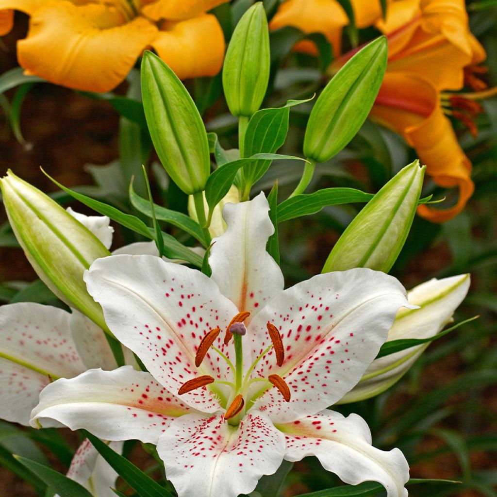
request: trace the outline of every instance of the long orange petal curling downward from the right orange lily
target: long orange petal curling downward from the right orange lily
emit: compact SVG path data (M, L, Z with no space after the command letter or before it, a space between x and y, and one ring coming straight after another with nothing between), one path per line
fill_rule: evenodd
M426 173L444 188L459 188L450 209L418 207L420 216L437 223L457 215L474 189L471 163L452 125L443 115L436 89L428 82L402 74L387 74L370 117L400 133L416 150Z

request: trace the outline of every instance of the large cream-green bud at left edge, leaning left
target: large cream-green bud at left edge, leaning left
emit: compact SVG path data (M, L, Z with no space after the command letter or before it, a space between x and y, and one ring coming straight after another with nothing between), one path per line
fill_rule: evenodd
M0 179L12 230L40 279L71 307L107 329L100 306L86 291L83 272L110 255L69 212L12 171Z

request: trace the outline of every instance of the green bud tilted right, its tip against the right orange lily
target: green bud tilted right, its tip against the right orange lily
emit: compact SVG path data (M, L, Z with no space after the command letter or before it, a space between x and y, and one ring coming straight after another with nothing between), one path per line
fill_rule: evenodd
M385 36L357 52L331 79L309 116L304 154L329 161L356 135L373 106L387 67Z

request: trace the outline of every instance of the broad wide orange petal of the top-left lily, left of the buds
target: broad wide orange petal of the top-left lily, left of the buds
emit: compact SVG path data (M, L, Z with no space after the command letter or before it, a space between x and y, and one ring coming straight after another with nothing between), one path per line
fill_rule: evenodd
M109 91L124 80L157 28L143 17L125 22L115 9L47 2L31 16L17 44L27 74L86 91Z

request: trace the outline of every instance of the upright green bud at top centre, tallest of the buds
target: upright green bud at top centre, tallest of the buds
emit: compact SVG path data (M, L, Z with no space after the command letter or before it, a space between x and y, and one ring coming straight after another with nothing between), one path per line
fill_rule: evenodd
M252 5L233 32L223 66L223 88L230 112L250 117L267 89L269 31L262 2Z

